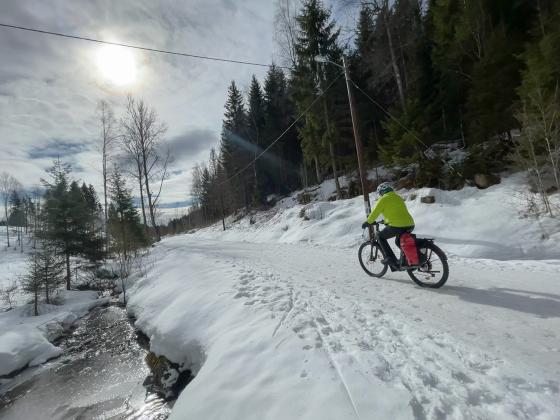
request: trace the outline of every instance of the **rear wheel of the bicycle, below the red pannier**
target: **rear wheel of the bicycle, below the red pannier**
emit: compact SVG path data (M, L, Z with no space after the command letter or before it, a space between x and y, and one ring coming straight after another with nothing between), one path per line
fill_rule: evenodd
M407 270L410 278L421 287L438 289L449 277L449 264L444 252L431 242L418 249L421 257L419 268Z

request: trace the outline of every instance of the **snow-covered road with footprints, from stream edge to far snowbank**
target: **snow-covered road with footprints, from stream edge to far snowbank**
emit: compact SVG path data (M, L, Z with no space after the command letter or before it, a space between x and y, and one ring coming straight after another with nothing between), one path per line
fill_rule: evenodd
M155 351L198 364L172 418L560 418L558 261L451 257L427 290L356 251L158 245L130 307Z

